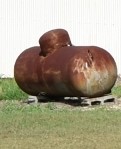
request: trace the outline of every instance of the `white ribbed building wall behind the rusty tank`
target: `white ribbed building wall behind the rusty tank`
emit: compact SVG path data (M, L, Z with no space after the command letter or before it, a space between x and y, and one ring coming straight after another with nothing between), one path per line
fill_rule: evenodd
M121 73L120 9L120 0L0 0L0 74L13 76L17 56L54 28L109 51Z

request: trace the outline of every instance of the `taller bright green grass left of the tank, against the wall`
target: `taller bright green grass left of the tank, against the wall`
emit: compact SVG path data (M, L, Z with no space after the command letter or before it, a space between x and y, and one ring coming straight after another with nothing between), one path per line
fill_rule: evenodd
M14 79L0 79L0 100L24 100L27 94L16 84Z

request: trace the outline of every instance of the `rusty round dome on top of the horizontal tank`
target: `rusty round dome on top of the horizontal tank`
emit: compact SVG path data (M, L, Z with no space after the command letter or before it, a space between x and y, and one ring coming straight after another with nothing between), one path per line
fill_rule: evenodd
M39 39L39 44L43 56L47 56L59 48L72 45L69 34L64 29L54 29L44 33Z

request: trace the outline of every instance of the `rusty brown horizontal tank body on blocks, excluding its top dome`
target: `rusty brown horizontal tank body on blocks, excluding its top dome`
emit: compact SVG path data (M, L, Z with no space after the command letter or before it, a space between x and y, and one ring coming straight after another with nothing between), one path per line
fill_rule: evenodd
M47 56L24 51L14 68L18 85L31 95L98 97L110 92L117 67L106 50L95 46L65 46Z

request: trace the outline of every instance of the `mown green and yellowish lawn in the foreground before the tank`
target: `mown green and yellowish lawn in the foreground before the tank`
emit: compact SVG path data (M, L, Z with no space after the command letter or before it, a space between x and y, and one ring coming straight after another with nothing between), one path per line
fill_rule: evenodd
M120 149L121 110L91 111L4 102L1 149Z

